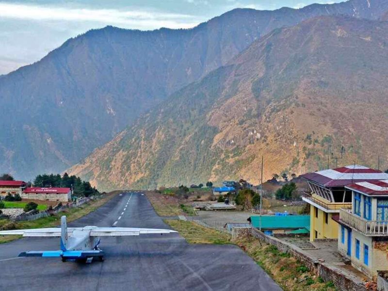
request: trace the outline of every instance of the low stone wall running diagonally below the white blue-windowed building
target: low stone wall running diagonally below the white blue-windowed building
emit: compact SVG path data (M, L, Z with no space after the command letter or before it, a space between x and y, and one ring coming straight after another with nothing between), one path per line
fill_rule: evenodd
M315 261L307 252L301 248L288 243L283 242L277 238L267 236L263 232L256 228L252 228L252 235L266 243L275 245L279 251L284 253L290 253L296 259L299 259L306 265L313 273L321 276L325 282L332 281L337 290L340 291L366 291L364 282L362 282L356 276L349 275L342 272L339 268L332 266L326 262Z

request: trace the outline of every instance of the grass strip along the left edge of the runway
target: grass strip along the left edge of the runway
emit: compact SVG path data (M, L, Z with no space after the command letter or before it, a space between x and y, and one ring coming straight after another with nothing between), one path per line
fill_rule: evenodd
M58 226L61 224L61 216L65 215L67 217L67 222L79 219L90 212L97 210L100 206L112 199L116 194L121 191L113 191L105 195L101 199L91 201L81 205L81 207L70 208L65 211L59 212L55 215L39 218L32 221L19 221L12 222L8 219L0 220L0 229L1 230L10 230L10 229L26 229L26 228L42 228L42 227L52 227ZM10 242L20 238L20 236L0 236L0 243Z

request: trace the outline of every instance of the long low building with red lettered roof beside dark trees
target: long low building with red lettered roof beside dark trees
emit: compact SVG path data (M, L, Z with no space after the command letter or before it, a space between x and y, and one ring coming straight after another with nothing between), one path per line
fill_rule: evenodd
M28 187L23 191L21 197L23 199L68 202L71 199L71 189Z

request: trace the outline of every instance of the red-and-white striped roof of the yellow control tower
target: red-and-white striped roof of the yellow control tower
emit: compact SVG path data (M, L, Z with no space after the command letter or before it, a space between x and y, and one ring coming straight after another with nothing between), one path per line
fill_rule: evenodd
M388 179L388 174L361 165L349 165L307 173L302 177L324 187L343 187L355 182Z

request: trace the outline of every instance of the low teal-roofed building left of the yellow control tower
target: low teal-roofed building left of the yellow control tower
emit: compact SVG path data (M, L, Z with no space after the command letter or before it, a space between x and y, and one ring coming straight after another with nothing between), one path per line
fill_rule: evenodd
M260 216L251 216L252 227L260 227ZM307 234L310 229L310 215L263 215L261 230L265 234Z

